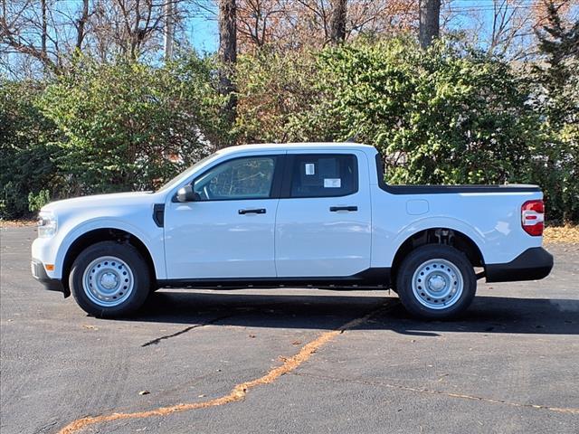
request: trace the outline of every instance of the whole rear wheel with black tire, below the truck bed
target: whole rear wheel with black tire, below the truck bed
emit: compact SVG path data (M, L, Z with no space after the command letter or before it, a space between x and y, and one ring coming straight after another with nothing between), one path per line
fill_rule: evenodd
M437 265L437 260L435 259L442 259L442 263L450 263L451 265L449 265L449 267L441 267L441 263ZM431 260L433 261L433 268L431 271L426 271L425 267L428 266L428 262ZM438 269L436 269L437 267ZM446 271L447 268L449 270L448 272ZM444 277L450 278L449 282L444 283L444 289L441 289L441 295L444 295L446 298L430 298L429 296L431 294L436 295L435 291L429 293L428 291L422 292L423 289L418 289L422 288L418 280L421 278L419 273L420 269L422 269L421 272L427 273L427 277L429 276L428 273L432 273L430 276L437 278L439 282L444 281ZM460 272L460 277L456 278L456 280L452 278L452 276L455 276L455 270ZM416 293L413 289L414 273L417 273L415 284ZM439 278L435 273L444 277ZM461 292L456 290L454 294L446 293L446 285L458 285L460 278L462 281ZM457 288L460 287L457 286ZM470 307L470 303L472 303L472 299L477 291L477 278L469 259L460 250L441 244L429 244L411 251L408 256L404 258L396 276L396 289L403 307L413 316L425 319L448 319L459 316ZM444 307L447 303L450 306ZM425 305L430 305L432 308Z

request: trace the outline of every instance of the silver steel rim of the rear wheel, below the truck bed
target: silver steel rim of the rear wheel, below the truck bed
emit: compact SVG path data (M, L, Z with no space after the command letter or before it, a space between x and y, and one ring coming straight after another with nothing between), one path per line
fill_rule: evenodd
M441 310L455 305L462 296L460 269L446 259L429 259L414 271L413 295L424 307Z

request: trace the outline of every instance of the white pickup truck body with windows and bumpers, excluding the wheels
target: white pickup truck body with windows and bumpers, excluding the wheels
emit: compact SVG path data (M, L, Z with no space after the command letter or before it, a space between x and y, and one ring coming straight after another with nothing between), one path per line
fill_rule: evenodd
M157 286L388 288L403 255L432 240L456 242L490 281L548 274L553 262L542 236L524 228L542 227L543 214L522 217L524 203L543 199L537 186L391 186L376 156L373 146L350 143L235 146L155 193L50 203L41 217L56 229L33 242L33 274L70 294L68 274L81 250L120 238L138 248ZM229 168L236 161L249 174L240 183L261 177L269 192L258 185L254 196L231 193L237 187L219 181L219 171L241 170ZM204 176L213 181L204 184ZM177 193L197 184L205 190L180 202Z

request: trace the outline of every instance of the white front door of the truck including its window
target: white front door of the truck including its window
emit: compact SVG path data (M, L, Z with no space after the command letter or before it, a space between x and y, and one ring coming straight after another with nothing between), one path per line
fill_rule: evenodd
M167 278L276 276L279 199L274 178L280 156L242 156L217 163L193 181L194 202L167 201Z

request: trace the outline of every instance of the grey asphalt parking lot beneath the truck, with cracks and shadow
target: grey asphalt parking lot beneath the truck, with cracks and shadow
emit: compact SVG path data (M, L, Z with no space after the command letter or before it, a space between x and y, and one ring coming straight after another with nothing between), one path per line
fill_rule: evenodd
M33 280L34 228L0 235L3 434L579 432L576 245L452 322L315 289L162 290L100 320Z

